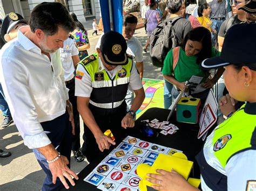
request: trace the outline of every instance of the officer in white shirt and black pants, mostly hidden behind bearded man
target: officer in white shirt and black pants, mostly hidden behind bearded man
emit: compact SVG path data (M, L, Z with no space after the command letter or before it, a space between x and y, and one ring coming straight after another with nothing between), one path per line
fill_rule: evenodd
M75 44L74 37L70 34L63 42L63 48L60 48L60 59L64 69L64 80L69 89L69 101L72 104L73 117L75 122L75 132L72 138L72 152L77 162L84 160L84 155L80 151L80 122L79 112L77 111L77 97L75 96L75 66L80 61L79 51ZM74 135L75 133L75 135Z

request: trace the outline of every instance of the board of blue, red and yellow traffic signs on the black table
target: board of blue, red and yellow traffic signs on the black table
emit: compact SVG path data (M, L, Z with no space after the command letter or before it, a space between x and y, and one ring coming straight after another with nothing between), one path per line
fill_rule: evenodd
M182 151L127 136L84 181L100 190L138 190L141 179L137 166L152 166L159 153L172 155L176 152Z

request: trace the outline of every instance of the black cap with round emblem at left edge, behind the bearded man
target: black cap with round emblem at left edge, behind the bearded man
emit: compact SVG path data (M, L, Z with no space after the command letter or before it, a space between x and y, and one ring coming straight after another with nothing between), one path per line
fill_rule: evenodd
M15 12L10 12L8 15L6 15L1 28L2 39L4 40L4 35L8 34L14 28L14 26L19 23L28 24L28 20L24 19L21 15Z

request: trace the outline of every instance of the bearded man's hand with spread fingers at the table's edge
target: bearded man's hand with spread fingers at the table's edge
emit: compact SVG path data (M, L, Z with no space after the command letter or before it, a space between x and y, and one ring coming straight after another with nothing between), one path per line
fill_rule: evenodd
M49 168L52 174L52 183L55 184L58 177L59 180L62 181L66 189L69 189L69 185L66 182L65 178L70 181L72 186L75 186L75 182L73 181L71 175L76 180L78 180L78 176L75 172L71 171L71 169L67 166L68 164L69 160L63 155L60 155L60 157L56 161L49 163Z

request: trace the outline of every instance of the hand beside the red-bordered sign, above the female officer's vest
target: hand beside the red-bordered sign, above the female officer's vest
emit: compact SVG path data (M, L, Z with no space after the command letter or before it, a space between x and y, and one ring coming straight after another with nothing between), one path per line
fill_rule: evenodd
M229 94L226 94L220 98L220 111L223 113L223 115L227 116L230 114L230 112L235 112L235 104L237 103L237 100L234 100Z

